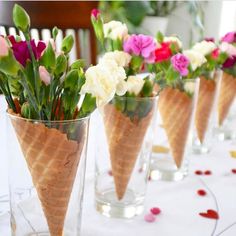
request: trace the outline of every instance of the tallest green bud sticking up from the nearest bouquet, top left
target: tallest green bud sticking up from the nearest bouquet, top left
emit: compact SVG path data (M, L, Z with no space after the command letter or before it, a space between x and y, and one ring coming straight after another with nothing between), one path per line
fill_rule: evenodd
M13 22L15 26L21 30L23 33L29 31L30 28L30 17L27 12L19 6L15 4L13 7Z

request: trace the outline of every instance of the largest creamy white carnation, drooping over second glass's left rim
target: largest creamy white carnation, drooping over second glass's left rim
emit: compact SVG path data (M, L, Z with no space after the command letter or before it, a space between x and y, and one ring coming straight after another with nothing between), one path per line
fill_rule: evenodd
M126 88L126 74L123 67L114 61L104 60L85 72L86 81L81 88L81 94L90 93L96 98L97 107L101 107L112 100L114 95L124 95Z

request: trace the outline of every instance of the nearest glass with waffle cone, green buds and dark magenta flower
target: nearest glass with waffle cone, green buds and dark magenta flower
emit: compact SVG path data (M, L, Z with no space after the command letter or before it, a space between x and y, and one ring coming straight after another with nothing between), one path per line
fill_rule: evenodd
M36 42L30 37L30 18L17 4L13 21L24 39L0 36L0 88L21 148L11 155L12 233L78 235L89 115L100 103L92 91L85 92L91 69L84 73L83 60L69 65L72 36L56 51L56 27L52 40ZM18 150L15 142L8 143L9 154Z

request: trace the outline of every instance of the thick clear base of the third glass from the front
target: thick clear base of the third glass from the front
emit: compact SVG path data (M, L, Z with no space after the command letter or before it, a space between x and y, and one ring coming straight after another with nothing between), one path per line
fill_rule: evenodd
M188 166L178 169L172 160L155 160L151 162L150 178L152 180L180 181L188 175Z

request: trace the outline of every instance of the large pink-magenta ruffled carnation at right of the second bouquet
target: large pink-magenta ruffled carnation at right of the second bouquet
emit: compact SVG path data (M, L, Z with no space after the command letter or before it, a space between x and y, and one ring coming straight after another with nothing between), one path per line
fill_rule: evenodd
M133 34L123 44L125 52L142 56L148 62L154 62L156 46L152 37L143 34Z

